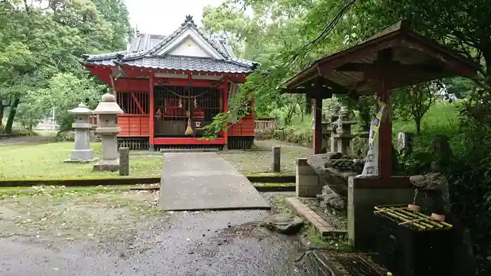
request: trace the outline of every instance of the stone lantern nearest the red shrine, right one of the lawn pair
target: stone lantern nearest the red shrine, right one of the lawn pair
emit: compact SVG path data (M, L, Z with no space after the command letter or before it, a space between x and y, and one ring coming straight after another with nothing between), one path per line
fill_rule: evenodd
M102 138L102 160L94 164L94 170L117 171L119 170L119 153L116 135L121 131L117 118L118 114L123 113L123 110L116 103L116 97L106 93L102 95L102 101L97 105L94 113L97 115L95 132Z

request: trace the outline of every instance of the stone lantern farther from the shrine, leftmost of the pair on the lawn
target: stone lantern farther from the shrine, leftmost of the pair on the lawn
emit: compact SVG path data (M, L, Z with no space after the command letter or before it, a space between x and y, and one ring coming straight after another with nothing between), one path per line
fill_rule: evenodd
M91 124L88 123L88 116L92 115L93 112L85 104L81 103L76 108L70 109L68 113L75 116L75 123L72 124L75 129L75 144L74 149L70 152L70 159L64 162L85 163L95 161L94 151L90 149L88 133L91 127Z

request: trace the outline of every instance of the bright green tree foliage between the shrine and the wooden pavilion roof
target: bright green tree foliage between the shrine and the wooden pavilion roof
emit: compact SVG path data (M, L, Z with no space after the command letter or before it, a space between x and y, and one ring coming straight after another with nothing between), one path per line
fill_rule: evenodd
M260 62L261 68L241 85L237 97L247 102L255 97L256 112L269 113L288 105L295 111L298 98L281 95L279 85L325 53L342 48L342 36L325 37L325 18L332 18L344 3L332 1L224 1L218 8L203 11L206 32L226 36L241 57ZM236 120L241 109L236 105L227 116ZM210 128L224 125L216 118ZM211 132L210 132L211 133Z

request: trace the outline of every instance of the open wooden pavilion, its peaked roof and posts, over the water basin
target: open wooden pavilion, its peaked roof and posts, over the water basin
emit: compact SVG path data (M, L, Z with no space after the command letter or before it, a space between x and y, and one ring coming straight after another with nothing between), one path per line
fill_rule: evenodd
M314 99L313 144L315 153L320 153L322 99L333 94L355 99L359 95L375 94L390 106L394 88L452 76L473 76L478 69L478 64L416 34L408 20L402 20L358 46L317 60L290 78L283 85L283 92L303 93ZM386 183L391 179L391 134L389 116L379 130L380 178L375 182Z

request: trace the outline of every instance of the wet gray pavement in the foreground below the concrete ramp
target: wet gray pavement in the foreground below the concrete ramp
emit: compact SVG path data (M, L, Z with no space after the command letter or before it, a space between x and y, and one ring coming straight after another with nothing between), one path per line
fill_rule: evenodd
M0 275L304 275L295 237L255 226L267 211L170 212L133 239L0 240Z

